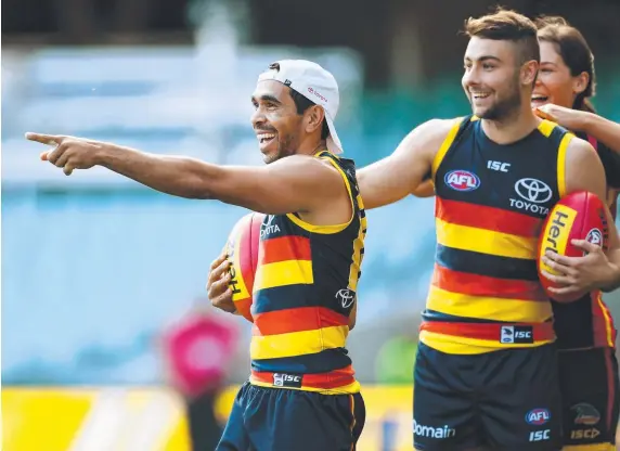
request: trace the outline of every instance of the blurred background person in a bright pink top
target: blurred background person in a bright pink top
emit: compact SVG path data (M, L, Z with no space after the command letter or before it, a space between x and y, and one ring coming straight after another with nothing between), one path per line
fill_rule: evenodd
M215 450L222 435L215 407L237 339L234 323L198 308L162 335L168 383L185 403L193 451Z

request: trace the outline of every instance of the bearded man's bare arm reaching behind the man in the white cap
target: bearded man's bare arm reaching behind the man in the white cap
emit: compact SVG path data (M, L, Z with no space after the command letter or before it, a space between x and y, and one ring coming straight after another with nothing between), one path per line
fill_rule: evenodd
M432 119L411 131L388 157L358 171L366 209L393 204L413 194L432 168L432 162L454 120Z

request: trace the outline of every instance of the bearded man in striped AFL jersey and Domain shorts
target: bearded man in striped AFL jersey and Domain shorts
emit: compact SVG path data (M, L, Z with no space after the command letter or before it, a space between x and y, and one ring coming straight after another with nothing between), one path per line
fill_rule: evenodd
M416 192L428 177L437 189L436 268L414 374L414 446L558 450L556 337L537 271L538 239L564 195L585 190L604 198L605 172L592 145L532 112L535 25L499 11L470 18L466 31L463 88L474 115L427 121L392 155L359 171L366 208ZM620 243L610 229L607 255L578 241L587 255L568 267L559 256L546 257L571 274L559 289L620 284Z

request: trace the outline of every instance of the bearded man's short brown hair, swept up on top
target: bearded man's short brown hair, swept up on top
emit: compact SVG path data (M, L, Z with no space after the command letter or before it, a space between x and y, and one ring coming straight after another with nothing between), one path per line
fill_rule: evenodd
M516 11L498 8L493 13L465 21L465 35L469 38L513 41L520 49L520 64L534 60L540 62L541 53L535 24Z

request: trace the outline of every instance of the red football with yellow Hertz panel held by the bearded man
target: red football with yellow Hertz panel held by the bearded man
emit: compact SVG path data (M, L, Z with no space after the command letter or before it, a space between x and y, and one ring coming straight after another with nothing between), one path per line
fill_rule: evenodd
M557 295L548 287L559 287L546 279L541 270L557 274L552 268L541 261L545 252L551 250L568 257L581 257L583 250L571 244L571 240L586 240L607 250L609 227L605 216L605 204L596 194L579 191L563 197L550 211L543 223L539 241L538 270L539 279L545 293L559 302L571 302L585 293L573 295Z

